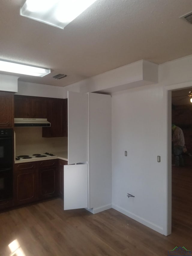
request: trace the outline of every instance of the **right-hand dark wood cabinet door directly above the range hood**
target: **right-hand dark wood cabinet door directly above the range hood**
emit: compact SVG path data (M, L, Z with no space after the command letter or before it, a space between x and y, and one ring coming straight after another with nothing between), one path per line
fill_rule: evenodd
M47 99L32 98L32 118L47 118Z

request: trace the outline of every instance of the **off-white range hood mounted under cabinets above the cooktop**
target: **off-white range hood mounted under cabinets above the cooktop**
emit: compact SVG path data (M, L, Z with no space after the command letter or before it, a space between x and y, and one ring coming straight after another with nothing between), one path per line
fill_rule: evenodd
M50 127L46 118L14 118L15 127Z

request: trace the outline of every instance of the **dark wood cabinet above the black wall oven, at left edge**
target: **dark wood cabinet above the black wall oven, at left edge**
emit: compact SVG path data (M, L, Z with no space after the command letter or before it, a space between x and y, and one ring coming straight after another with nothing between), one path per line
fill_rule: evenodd
M0 127L13 127L13 93L0 92Z

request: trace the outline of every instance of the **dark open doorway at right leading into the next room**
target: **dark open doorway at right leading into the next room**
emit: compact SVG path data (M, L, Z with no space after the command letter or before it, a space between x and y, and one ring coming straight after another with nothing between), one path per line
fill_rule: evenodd
M172 91L172 123L179 126L185 139L184 167L174 166L172 154L172 233L191 232L192 226L192 86ZM191 99L191 101L190 101Z

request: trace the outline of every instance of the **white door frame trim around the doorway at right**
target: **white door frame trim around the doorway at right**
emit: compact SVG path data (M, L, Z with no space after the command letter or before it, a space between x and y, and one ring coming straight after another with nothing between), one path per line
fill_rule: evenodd
M165 235L171 234L171 226L172 226L172 173L171 173L171 159L172 159L172 152L171 152L171 120L172 120L172 99L171 99L171 92L176 89L184 89L187 87L192 86L192 81L186 83L178 83L174 85L164 86L164 105L166 106L167 112L167 127L166 127L166 135L167 135L167 224L165 227Z

